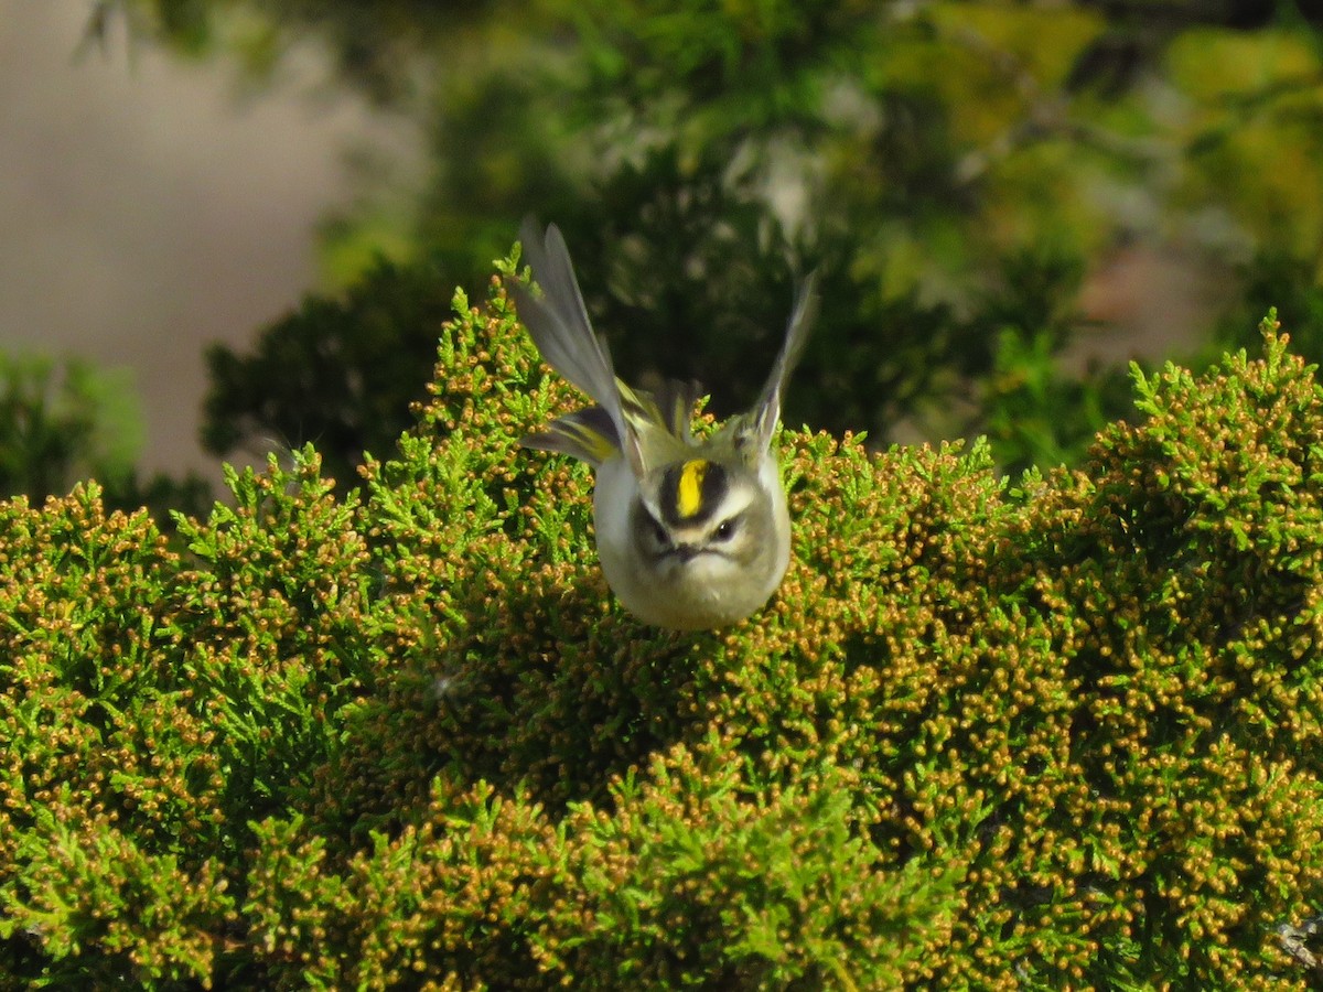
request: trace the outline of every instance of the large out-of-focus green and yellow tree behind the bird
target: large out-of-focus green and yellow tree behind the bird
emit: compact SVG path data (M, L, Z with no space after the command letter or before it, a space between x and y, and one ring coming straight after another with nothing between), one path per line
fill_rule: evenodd
M1263 278L1242 259L1290 259L1274 271L1297 296L1319 284L1312 0L102 0L94 33L116 13L258 79L315 38L344 79L418 122L431 156L414 206L325 229L360 303L398 290L377 280L382 243L446 294L475 292L534 212L565 230L624 374L697 378L717 413L757 389L796 270L820 271L824 304L790 422L875 440L897 425L990 433L1008 467L1076 458L1125 413L1115 369L1060 358L1088 325L1082 283L1126 246L1233 270L1208 306L1245 333ZM1027 296L1054 312L1016 311ZM336 306L274 325L250 360L213 354L216 450L320 434L345 464L389 443L397 419L378 411L407 406L425 362L401 365L370 411L288 374L335 381L327 343L332 360L368 353L380 329ZM400 333L411 356L435 328ZM282 369L259 357L277 337Z

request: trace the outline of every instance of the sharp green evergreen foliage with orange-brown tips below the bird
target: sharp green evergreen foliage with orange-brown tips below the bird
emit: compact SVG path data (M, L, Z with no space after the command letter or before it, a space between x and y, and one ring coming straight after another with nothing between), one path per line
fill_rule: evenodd
M787 433L782 590L679 635L516 447L573 397L499 283L456 313L361 496L273 459L183 550L0 504L5 984L1316 983L1323 392L1270 325L1017 488Z

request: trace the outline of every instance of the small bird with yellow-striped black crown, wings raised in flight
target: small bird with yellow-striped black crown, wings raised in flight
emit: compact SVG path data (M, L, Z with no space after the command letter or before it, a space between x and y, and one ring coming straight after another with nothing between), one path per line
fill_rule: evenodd
M519 316L546 364L598 403L523 443L595 470L597 552L626 610L676 630L742 620L777 591L790 563L790 515L771 438L812 323L814 276L795 294L786 341L757 405L696 440L693 386L671 381L648 392L615 377L556 225L544 239L525 221L520 239L542 295L512 280Z

